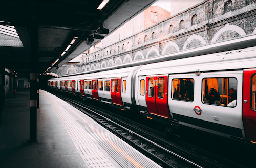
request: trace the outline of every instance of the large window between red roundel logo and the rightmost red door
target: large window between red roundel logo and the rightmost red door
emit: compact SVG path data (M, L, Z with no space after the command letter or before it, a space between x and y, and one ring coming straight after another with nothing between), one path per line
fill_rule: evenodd
M202 81L202 102L221 106L237 105L236 78L204 78Z

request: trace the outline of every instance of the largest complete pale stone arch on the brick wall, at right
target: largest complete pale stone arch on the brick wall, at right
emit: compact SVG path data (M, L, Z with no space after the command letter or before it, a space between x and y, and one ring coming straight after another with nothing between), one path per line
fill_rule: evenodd
M216 34L214 35L214 37L212 38L211 42L216 42L218 37L226 32L226 31L234 31L234 32L237 32L240 36L244 36L246 35L245 31L240 28L239 26L236 26L236 25L225 25L223 28L221 28L218 32L216 32Z

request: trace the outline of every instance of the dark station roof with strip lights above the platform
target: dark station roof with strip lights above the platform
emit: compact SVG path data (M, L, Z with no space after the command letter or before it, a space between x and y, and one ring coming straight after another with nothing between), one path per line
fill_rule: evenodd
M110 0L99 10L102 1L1 1L0 66L19 74L30 72L30 31L33 25L38 26L38 69L42 73L56 60L59 59L54 66L61 66L100 40L94 38L94 42L87 45L84 40L89 36L107 36L155 2ZM109 29L109 33L99 34L99 28ZM67 50L72 40L75 42ZM67 52L61 56L65 50Z

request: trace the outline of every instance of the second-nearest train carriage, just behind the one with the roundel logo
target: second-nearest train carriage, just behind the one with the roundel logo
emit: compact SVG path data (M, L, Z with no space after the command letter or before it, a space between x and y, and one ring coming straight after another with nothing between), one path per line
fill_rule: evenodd
M129 110L134 100L134 74L139 68L136 66L81 75L78 78L79 95L83 99L99 100Z

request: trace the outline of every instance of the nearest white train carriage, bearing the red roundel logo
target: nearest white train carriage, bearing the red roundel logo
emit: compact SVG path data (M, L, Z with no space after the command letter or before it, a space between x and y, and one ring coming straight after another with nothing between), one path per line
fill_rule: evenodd
M249 79L244 72L256 65L254 53L250 48L145 65L136 77L136 105L145 117L168 125L256 141L256 113L243 111L242 99L243 81Z

